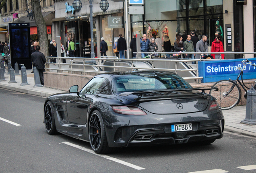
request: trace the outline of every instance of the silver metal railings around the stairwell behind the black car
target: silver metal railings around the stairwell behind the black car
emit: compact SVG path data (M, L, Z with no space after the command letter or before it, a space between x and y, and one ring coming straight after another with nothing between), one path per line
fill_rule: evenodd
M134 52L135 53L135 52ZM138 53L148 53L151 54L153 52L138 52ZM161 54L181 54L183 56L183 54L202 54L201 52L155 52L155 53L161 53ZM204 52L204 54L220 54L222 52ZM256 53L251 53L251 52L223 52L224 54L256 54ZM69 74L72 74L74 72L80 72L81 74L92 74L92 75L96 75L96 74L100 74L100 73L104 73L107 71L104 71L103 69L105 67L109 67L109 68L114 68L114 71L116 71L116 68L122 68L124 70L164 70L164 71L171 71L171 72L194 72L196 74L196 76L192 76L192 77L183 77L186 80L189 79L196 79L196 82L200 82L200 79L203 77L199 76L198 73L198 61L206 61L206 60L215 60L215 59L202 59L201 55L199 59L186 59L186 58L180 58L180 59L169 59L169 58L164 58L164 59L160 59L160 58L132 58L132 59L122 59L122 58L118 58L116 56L101 56L100 58L75 58L75 57L47 57L47 58L56 58L58 60L58 62L53 63L50 62L50 59L48 60L47 64L49 65L49 67L45 68L49 71L53 71L53 70L57 70L57 72L62 73L64 71L68 72ZM61 63L62 59L73 59L70 60L70 63ZM75 63L75 61L79 61L79 63ZM113 62L113 65L104 65L101 63L101 60L104 61L111 61ZM130 62L131 66L119 66L118 64L120 64L120 62ZM151 63L151 68L145 68L145 67L136 67L134 66L135 62L150 62ZM175 63L175 68L154 68L154 62L173 62ZM196 62L196 64L194 65L190 65L190 69L179 69L177 64L178 62ZM56 67L53 67L52 65L57 65ZM65 65L68 65L68 68L64 67ZM83 67L83 68L74 68L74 66L76 67ZM88 70L87 67L93 67L93 70ZM198 80L197 80L198 79Z

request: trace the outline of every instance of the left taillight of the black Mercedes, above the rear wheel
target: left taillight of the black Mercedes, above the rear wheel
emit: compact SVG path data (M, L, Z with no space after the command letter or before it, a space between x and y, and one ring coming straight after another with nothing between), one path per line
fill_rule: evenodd
M124 115L147 115L147 113L141 109L133 106L113 106L112 109L115 113Z

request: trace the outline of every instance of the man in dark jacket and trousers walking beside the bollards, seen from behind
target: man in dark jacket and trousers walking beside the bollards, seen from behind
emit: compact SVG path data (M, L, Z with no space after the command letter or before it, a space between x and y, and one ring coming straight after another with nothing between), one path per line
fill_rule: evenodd
M44 85L43 72L45 71L44 64L46 62L46 59L43 53L39 52L39 50L40 50L40 46L36 46L35 52L31 55L31 60L33 62L33 66L35 66L39 72L41 84Z

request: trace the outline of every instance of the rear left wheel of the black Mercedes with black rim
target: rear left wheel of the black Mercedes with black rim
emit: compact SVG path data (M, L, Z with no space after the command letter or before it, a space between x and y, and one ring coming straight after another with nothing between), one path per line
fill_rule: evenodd
M112 152L113 148L108 147L105 125L99 111L95 110L89 120L89 138L93 151L97 154Z

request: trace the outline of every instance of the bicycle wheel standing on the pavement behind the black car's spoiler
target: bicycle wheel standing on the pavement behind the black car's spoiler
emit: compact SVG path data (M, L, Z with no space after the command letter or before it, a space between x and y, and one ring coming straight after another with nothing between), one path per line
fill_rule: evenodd
M216 98L221 110L233 108L241 99L241 90L237 84L235 84L233 90L226 97L223 96L224 93L227 93L231 89L233 84L234 82L230 80L220 80L212 86L212 88L219 89L219 91L211 90L210 95Z

